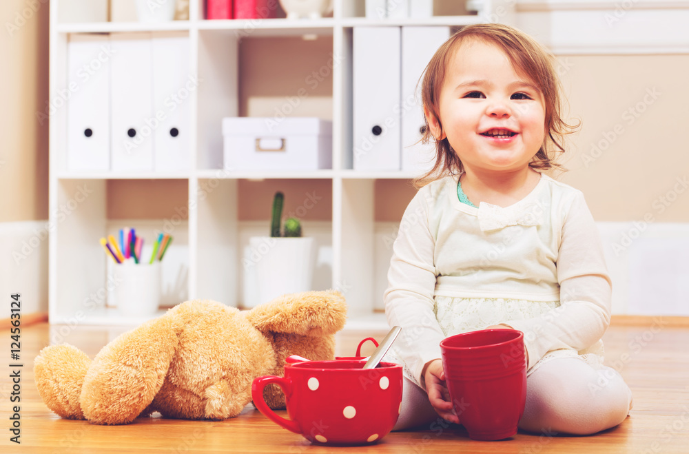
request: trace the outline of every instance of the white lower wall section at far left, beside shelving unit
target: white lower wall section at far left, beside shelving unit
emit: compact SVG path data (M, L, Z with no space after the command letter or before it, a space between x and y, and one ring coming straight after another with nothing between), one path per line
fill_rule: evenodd
M0 297L21 294L21 313L48 312L48 220L0 223ZM0 318L10 318L9 304Z

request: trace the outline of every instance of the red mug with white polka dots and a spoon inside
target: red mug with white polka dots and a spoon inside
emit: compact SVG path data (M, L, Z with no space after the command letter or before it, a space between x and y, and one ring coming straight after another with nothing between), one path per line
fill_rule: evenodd
M392 430L402 405L402 367L381 362L362 369L364 361L331 360L285 364L285 377L267 375L251 384L256 409L309 442L356 445L378 442ZM275 383L285 393L289 420L263 400Z

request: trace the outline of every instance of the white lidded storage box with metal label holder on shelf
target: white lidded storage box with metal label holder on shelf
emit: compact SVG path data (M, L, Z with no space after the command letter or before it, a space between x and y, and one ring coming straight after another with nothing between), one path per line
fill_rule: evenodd
M331 169L332 134L320 118L223 118L225 169Z

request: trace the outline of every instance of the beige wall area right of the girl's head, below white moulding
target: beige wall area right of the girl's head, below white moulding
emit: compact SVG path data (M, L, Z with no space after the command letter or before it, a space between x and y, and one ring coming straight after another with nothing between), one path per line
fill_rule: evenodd
M689 55L561 61L570 65L562 79L571 114L582 120L563 161L570 171L561 179L584 191L597 220L650 215L661 222L689 222L689 191L676 192L686 189L677 178L689 178L689 142L683 137Z

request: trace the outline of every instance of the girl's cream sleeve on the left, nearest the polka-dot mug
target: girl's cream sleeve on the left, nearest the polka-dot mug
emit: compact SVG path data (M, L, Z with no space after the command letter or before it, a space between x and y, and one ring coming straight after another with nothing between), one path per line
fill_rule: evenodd
M395 351L420 384L426 362L440 358L440 341L445 337L433 311L435 239L425 194L423 189L418 192L404 211L384 294L390 326L402 328Z

